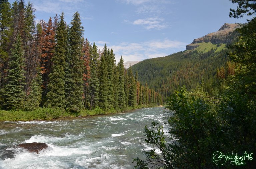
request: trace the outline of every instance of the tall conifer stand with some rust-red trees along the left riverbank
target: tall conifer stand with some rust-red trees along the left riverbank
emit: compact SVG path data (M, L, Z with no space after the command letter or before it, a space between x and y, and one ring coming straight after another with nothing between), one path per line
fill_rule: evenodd
M23 0L0 1L0 103L2 110L39 107L80 112L160 105L159 93L143 86L132 68L116 64L106 45L99 50L83 38L76 12L70 25L64 13L35 21Z

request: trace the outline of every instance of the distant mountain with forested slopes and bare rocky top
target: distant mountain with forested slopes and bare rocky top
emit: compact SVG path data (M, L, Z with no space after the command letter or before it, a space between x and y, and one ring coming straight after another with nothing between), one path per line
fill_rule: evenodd
M207 34L187 45L187 49L165 57L143 60L132 66L134 72L138 71L138 80L167 99L180 85L187 89L203 84L208 92L214 92L216 71L225 67L229 61L227 55L239 28L239 24L225 23L213 33Z

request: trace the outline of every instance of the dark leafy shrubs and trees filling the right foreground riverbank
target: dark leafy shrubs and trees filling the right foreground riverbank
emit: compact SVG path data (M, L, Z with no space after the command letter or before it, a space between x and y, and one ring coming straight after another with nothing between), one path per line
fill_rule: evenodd
M238 3L238 8L230 10L230 17L255 15L256 1L232 2ZM168 135L158 123L145 127L144 143L152 149L144 151L146 160L134 159L136 169L255 168L256 18L237 31L238 41L229 50L234 72L226 74L224 68L216 72L215 81L222 90L214 95L202 83L190 91L179 87L173 92L166 103L172 111L166 119ZM216 152L218 156L214 156ZM237 159L232 158L234 154Z

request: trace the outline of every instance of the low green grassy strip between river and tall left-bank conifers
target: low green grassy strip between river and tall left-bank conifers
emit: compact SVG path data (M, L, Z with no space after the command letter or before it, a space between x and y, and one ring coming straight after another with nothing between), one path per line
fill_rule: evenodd
M124 111L131 111L134 109L145 108L145 107L155 107L157 105L137 105L134 107L127 107ZM122 112L124 112L122 111ZM63 117L78 117L78 116L93 116L93 115L103 115L109 113L119 113L120 110L115 109L101 109L95 108L93 110L83 109L80 112L71 113L68 111L63 111L55 108L37 108L33 111L23 111L23 110L0 110L0 121L30 121L30 120L52 120Z

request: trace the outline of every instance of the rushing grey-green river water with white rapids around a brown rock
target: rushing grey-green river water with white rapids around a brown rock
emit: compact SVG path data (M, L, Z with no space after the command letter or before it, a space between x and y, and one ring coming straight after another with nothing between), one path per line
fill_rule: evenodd
M132 169L132 159L144 159L145 125L164 123L163 108L57 121L0 122L0 169ZM44 142L39 154L17 148ZM141 147L142 146L142 147Z

